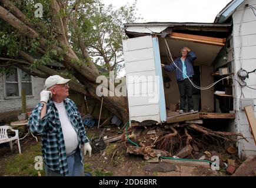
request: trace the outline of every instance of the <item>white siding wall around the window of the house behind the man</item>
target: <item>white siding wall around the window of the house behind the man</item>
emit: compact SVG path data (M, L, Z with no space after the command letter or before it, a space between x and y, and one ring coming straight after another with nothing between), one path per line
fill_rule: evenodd
M40 92L44 89L45 79L31 77L32 79L32 96L26 97L26 108L31 110L40 100ZM11 112L11 113L8 113ZM21 113L21 97L5 98L4 77L0 77L0 121L18 120L17 115Z

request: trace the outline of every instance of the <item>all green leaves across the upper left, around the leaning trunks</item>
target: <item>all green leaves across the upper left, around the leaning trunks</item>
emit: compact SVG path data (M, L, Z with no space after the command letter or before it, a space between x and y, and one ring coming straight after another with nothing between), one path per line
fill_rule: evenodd
M63 61L71 47L79 58L71 63L88 65L88 59L83 56L84 51L78 41L78 36L81 36L81 41L95 64L115 72L122 69L123 66L118 65L123 59L122 39L126 38L122 24L138 21L135 14L137 1L132 5L114 8L99 0L63 0L60 1L63 6L61 5L58 15L53 14L48 0L11 2L26 16L26 21L21 21L36 31L40 38L31 39L0 19L0 56L17 58L18 51L22 50L36 59L31 68L37 68L39 65ZM42 18L35 17L36 3L42 4ZM64 29L67 29L65 33L67 32L69 46L58 41L58 36L63 33L56 32L56 24L52 18L61 19L62 23L67 24ZM46 40L43 47L40 43L42 38ZM62 51L57 52L53 46L58 46ZM46 50L46 53L42 55L38 47Z

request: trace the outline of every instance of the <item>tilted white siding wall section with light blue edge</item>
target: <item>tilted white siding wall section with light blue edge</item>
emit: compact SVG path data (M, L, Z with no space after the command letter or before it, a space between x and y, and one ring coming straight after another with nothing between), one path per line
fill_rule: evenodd
M158 38L123 41L130 120L166 121Z

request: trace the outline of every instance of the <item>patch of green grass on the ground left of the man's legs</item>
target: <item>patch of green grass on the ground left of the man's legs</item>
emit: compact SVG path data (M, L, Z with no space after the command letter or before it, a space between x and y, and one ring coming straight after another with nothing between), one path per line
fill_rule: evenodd
M38 176L38 172L44 176L44 170L35 170L35 157L42 156L40 142L21 152L4 159L1 167L4 176Z

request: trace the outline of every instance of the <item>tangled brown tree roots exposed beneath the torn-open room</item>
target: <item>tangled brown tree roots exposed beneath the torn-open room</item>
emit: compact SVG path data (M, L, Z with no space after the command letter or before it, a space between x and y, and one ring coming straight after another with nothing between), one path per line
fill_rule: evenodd
M241 133L214 131L195 123L174 123L160 127L157 127L157 133L151 137L149 135L134 137L129 144L139 143L139 145L127 146L127 153L143 155L144 159L148 160L159 156L177 155L182 148L191 147L193 143L205 147L214 143L215 146L221 147L224 142L235 144L237 140L247 140ZM191 152L188 153L192 155Z

